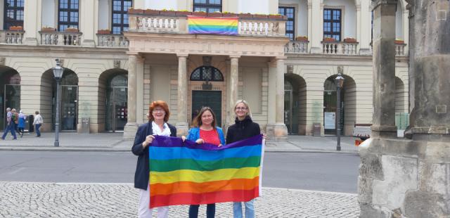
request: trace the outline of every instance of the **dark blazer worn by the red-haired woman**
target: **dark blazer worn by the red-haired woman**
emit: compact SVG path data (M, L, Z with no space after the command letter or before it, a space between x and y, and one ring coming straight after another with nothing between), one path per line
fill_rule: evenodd
M170 129L170 136L176 137L176 128L171 124L167 125ZM141 188L143 190L147 190L148 188L148 176L150 174L150 168L148 167L148 146L143 148L142 143L146 141L148 135L152 134L152 123L147 122L139 127L134 137L131 152L138 156L136 172L134 173L134 188Z

